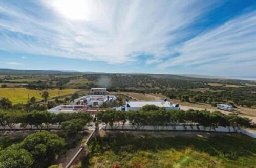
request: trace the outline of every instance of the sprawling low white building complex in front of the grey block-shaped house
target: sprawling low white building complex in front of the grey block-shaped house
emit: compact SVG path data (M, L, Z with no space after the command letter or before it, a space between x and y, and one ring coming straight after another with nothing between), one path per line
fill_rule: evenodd
M116 101L117 97L115 95L86 95L77 98L72 101L72 105L87 105L87 106L100 106L104 102L109 103Z

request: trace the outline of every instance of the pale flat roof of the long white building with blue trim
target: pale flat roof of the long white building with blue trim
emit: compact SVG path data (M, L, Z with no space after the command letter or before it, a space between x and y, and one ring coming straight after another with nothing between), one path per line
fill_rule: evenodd
M145 105L155 105L157 107L171 107L172 104L170 104L170 102L168 101L129 101L126 102L127 104L130 105L130 107L143 107Z

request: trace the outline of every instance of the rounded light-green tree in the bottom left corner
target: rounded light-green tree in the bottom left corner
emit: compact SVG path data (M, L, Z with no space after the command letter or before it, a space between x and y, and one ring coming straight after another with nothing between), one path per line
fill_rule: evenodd
M0 167L30 168L33 162L32 154L16 145L0 151Z

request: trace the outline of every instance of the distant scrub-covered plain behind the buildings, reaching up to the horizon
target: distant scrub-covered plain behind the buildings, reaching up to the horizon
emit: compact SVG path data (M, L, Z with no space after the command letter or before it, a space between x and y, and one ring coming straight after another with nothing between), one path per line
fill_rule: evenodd
M7 73L7 71L3 70ZM16 71L12 71L15 74ZM53 71L54 72L54 71ZM230 103L234 106L256 106L256 82L230 79L205 79L178 75L160 74L82 74L52 71L35 71L24 75L7 75L1 79L2 85L13 84L20 87L24 82L26 88L16 88L13 95L8 94L13 88L0 88L0 97L8 97L14 104L26 102L28 94L41 99L45 89L49 98L57 96L53 90L63 92L63 88L90 89L106 87L109 91L126 91L140 93L161 93L171 99L180 99L191 103L203 102L216 106L217 103ZM41 74L38 74L41 73ZM62 74L62 75L59 75ZM26 80L28 80L26 82ZM20 89L20 90L19 90ZM42 91L40 91L42 90ZM2 92L3 91L3 92ZM30 92L36 93L30 93ZM20 95L24 93L23 95ZM72 93L70 91L69 93ZM18 95L16 95L18 93ZM38 95L39 94L39 95ZM60 95L64 95L65 93ZM68 94L68 93L66 93ZM20 96L19 96L20 95ZM15 97L14 97L15 96ZM74 97L75 98L75 97Z

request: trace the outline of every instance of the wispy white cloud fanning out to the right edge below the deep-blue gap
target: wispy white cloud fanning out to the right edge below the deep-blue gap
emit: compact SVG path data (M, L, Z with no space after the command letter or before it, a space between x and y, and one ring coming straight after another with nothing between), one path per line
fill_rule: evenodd
M179 57L160 68L194 66L201 72L254 74L256 72L256 12L243 14L176 48Z

